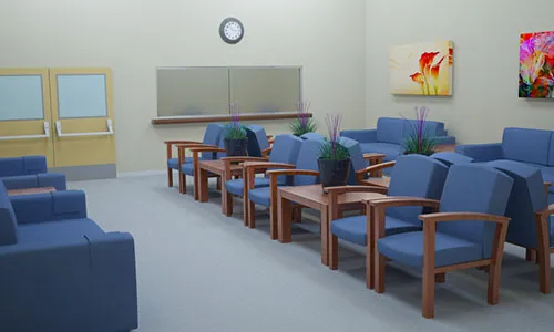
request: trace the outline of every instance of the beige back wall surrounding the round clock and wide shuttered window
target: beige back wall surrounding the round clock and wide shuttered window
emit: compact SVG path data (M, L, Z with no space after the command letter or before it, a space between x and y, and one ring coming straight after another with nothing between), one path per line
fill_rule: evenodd
M153 127L156 66L304 65L304 95L324 126L365 126L363 0L19 0L0 2L0 66L110 66L120 172L163 169L163 141L205 124ZM236 17L246 34L225 44ZM263 122L270 134L285 122Z

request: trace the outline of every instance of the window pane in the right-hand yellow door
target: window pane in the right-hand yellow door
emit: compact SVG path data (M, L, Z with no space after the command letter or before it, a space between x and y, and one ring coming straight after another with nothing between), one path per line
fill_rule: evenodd
M58 116L107 116L105 75L58 75Z

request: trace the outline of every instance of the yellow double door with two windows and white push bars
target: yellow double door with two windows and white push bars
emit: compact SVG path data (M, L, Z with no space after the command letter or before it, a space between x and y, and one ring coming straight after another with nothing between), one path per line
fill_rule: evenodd
M0 157L44 155L73 178L95 166L115 175L112 94L110 69L0 69Z

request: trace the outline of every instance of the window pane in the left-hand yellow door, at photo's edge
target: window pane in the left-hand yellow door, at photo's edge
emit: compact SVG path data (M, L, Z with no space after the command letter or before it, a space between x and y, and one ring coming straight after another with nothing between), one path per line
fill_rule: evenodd
M0 76L0 121L41 118L44 118L42 76Z

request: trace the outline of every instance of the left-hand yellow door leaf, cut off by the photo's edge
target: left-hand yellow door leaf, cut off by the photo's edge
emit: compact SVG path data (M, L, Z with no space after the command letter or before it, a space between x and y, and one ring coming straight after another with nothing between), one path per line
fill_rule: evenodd
M54 166L48 69L0 69L0 157L43 155Z

